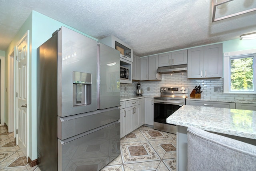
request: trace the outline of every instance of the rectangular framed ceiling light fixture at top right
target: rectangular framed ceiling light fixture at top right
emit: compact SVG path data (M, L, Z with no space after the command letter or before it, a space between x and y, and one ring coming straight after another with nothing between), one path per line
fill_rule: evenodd
M256 11L256 2L247 0L212 0L212 22Z

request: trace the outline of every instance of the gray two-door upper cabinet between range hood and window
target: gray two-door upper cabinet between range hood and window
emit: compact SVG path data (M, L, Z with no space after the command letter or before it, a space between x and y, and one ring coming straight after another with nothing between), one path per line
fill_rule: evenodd
M222 77L222 44L188 49L188 78Z

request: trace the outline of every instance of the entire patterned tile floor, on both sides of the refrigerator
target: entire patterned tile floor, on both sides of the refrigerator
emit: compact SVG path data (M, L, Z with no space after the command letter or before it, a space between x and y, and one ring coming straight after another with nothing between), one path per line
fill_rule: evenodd
M121 139L121 154L101 171L176 171L176 135L141 126ZM0 170L40 171L30 167L14 143L14 133L0 127Z

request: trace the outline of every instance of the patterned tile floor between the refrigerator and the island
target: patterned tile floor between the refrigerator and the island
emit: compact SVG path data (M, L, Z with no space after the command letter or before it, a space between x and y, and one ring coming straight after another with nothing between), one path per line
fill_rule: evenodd
M176 171L176 135L141 126L121 139L121 154L101 171Z

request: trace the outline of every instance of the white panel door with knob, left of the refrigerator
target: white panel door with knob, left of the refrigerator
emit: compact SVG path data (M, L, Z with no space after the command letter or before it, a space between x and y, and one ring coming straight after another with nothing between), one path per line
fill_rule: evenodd
M28 34L17 44L17 119L18 145L27 156L27 70L28 70Z

